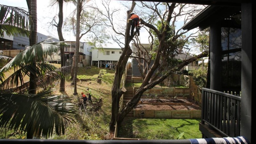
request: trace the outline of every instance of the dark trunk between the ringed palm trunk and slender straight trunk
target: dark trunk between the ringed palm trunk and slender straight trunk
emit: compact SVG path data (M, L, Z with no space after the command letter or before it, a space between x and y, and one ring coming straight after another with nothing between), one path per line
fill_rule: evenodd
M63 0L57 0L59 2L59 22L57 25L57 31L58 31L58 36L59 40L61 42L64 42L64 38L62 35L62 24L63 24ZM64 61L64 47L60 47L60 66L64 67L65 66L65 61ZM60 78L60 92L65 91L65 77Z

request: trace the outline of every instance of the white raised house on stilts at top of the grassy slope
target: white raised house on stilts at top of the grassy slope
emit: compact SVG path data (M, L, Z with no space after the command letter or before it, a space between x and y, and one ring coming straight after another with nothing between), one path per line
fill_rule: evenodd
M98 68L115 68L115 64L121 54L121 48L92 47L92 66L98 66Z

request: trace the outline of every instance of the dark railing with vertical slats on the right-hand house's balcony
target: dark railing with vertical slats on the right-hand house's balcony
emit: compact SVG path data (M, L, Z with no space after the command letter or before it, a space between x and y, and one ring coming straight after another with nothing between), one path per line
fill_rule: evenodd
M202 124L229 137L240 135L241 97L202 89Z

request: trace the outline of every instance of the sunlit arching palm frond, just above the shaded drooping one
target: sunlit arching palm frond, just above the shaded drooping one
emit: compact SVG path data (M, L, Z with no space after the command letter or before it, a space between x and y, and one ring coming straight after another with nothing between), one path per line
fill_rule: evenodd
M14 66L17 67L32 64L34 59L36 59L36 61L43 61L44 57L51 55L53 52L58 52L60 50L60 46L66 45L63 42L47 42L49 39L29 46L18 53L9 63L0 69L0 72L4 70L7 71L9 68Z

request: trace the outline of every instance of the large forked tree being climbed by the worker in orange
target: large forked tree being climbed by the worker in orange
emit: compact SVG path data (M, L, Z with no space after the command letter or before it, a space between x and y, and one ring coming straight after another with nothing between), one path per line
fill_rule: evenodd
M185 62L179 65L169 65L168 61L171 58L170 54L173 56L179 53L179 50L182 49L189 36L185 36L188 31L182 31L182 29L176 30L175 24L179 17L184 16L184 23L191 19L197 12L201 9L195 5L189 4L176 4L176 3L157 3L157 2L140 2L136 4L135 1L132 1L131 7L127 11L127 23L125 31L119 31L118 28L115 28L113 24L113 12L109 11L109 3L104 4L105 10L108 14L105 16L109 19L109 26L113 28L117 35L124 37L124 47L122 47L122 54L116 64L116 73L114 77L114 82L112 86L112 115L109 124L109 131L115 131L115 125L120 126L124 117L134 108L140 100L143 92L148 89L153 88L156 84L159 84L164 79L166 79L172 72L184 67L186 64L197 60L200 57L205 57L207 53L199 54L191 59L186 60ZM144 14L140 16L140 24L142 28L146 28L150 33L149 38L151 38L151 51L154 52L154 57L150 57L150 60L154 60L152 66L145 67L141 73L143 77L143 82L141 86L134 93L132 99L125 104L123 108L119 110L119 101L122 94L125 93L125 89L121 87L121 77L123 76L124 69L129 57L132 57L132 50L129 46L130 42L133 41L137 44L136 47L140 48L140 38L137 37L136 33L134 36L130 36L130 12L135 12L135 6L140 6L140 10L137 10L137 14ZM116 10L117 11L117 10ZM187 17L186 17L187 16ZM192 35L192 34L191 34ZM140 34L141 36L141 34ZM117 36L112 36L116 38L116 42L121 42L120 38L117 39ZM154 49L155 48L155 49ZM143 47L141 47L143 49ZM138 50L140 51L140 50ZM177 52L176 52L177 51ZM138 60L145 60L143 57L133 56ZM156 72L156 73L155 73Z

